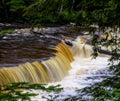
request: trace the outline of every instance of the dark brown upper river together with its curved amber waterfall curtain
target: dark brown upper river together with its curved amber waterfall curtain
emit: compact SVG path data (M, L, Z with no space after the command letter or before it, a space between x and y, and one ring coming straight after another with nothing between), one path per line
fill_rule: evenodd
M10 38L1 40L0 85L55 82L68 75L73 56L64 42L49 35Z

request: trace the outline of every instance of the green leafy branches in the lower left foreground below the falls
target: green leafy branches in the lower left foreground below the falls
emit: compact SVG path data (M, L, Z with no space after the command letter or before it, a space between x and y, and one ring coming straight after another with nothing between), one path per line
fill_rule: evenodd
M38 94L31 93L29 90L43 90L46 92L59 92L62 90L60 85L48 86L45 84L30 84L28 82L11 83L0 87L0 101L31 101L32 96Z

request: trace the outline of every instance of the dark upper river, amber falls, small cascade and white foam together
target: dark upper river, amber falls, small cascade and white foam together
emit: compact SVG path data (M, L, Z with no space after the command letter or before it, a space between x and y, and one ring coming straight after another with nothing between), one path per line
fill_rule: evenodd
M34 37L33 40L36 41L29 40L31 37L23 38L20 41L16 41L17 38L16 40L8 38L10 44L6 44L6 40L0 41L0 52L2 53L0 58L3 60L7 58L6 61L0 61L0 85L25 81L48 83L48 85L60 84L64 88L62 92L57 94L55 92L30 90L30 92L38 94L38 96L31 98L32 101L46 101L42 96L49 98L56 95L59 95L57 101L62 101L63 98L76 96L77 92L75 90L100 82L104 77L112 75L107 71L109 57L102 55L93 59L91 56L93 53L92 46L86 44L87 39L84 37L80 36L71 41L72 46L67 46L64 41L58 41L55 38L52 39L57 40L57 44L50 46L47 45L44 38L41 40L39 35ZM53 44L47 38L47 42ZM30 46L26 48L27 43L25 42L30 43ZM7 50L4 51L4 49ZM41 50L43 54L39 52ZM15 62L13 62L12 56L15 57ZM44 59L44 57L47 58Z

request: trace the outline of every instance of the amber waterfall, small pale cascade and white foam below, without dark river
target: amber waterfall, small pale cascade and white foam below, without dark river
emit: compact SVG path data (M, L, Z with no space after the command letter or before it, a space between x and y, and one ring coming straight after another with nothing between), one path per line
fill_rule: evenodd
M12 82L48 83L48 85L60 84L64 88L58 93L58 101L63 98L75 96L75 90L90 86L103 80L103 76L110 76L107 71L107 56L92 58L92 46L86 44L86 39L79 36L68 46L61 41L53 50L55 56L41 62L27 62L16 67L3 67L0 69L0 85ZM42 96L56 96L40 90L30 90L38 96L31 98L32 101L47 101Z

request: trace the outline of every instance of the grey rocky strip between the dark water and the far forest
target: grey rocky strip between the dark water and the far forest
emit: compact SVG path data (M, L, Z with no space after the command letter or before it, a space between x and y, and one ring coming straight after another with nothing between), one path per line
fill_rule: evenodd
M71 37L73 36L72 29L69 27L46 27L46 28L24 28L24 29L15 29L12 34L6 33L5 35L0 36L0 39L9 40L11 38L27 38L33 37L34 35L40 35L40 37L51 37L58 40L61 40L63 36Z

